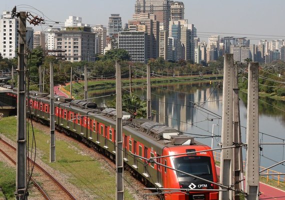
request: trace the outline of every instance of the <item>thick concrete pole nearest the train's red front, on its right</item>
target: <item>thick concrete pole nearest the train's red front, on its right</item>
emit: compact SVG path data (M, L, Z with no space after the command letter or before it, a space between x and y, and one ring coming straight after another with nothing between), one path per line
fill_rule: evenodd
M222 147L232 146L232 78L233 78L233 54L224 55L223 88L222 88ZM220 183L225 186L232 184L232 148L222 149L220 156ZM232 199L231 191L220 191L219 200Z

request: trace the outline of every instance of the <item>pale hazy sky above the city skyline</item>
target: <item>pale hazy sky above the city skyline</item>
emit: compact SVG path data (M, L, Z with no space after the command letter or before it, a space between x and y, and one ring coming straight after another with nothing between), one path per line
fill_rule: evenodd
M252 43L260 39L285 39L282 14L285 0L180 1L185 6L184 18L195 25L202 40L207 41L208 35L247 36ZM52 21L64 22L69 15L82 17L83 23L107 26L111 13L120 14L123 24L131 19L134 4L135 0L2 0L0 11L11 10L16 5L17 11L40 16L43 13L45 22L54 27L59 25ZM47 28L47 24L34 27L35 30Z

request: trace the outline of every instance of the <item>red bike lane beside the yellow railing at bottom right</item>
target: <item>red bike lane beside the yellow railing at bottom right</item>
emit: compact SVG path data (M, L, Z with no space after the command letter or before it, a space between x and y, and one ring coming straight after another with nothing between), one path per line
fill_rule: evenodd
M219 167L216 166L216 172L219 176ZM272 187L265 183L259 182L259 199L278 199L285 200L285 191L278 189L276 187Z

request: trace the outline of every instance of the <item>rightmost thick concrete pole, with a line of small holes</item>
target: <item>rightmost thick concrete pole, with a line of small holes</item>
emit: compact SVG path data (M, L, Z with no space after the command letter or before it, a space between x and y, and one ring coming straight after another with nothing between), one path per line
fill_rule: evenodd
M248 63L245 199L259 198L258 62Z

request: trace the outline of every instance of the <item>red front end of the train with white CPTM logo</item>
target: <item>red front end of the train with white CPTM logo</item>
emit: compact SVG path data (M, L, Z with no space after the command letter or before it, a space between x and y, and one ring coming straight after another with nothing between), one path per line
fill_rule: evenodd
M216 184L207 182L217 182L212 151L207 150L210 147L206 145L178 145L164 148L163 155L173 155L164 157L164 163L167 166L192 174L196 177L185 173L165 168L163 176L164 188L180 188L179 192L166 193L165 200L215 200L218 199L217 191L207 191L207 189L218 189ZM201 151L191 153L194 151ZM189 153L186 153L189 152ZM183 154L185 153L185 154ZM176 155L180 154L180 155ZM175 156L176 155L176 156ZM200 178L206 179L200 179ZM188 191L186 190L188 189ZM195 189L204 189L198 191Z

